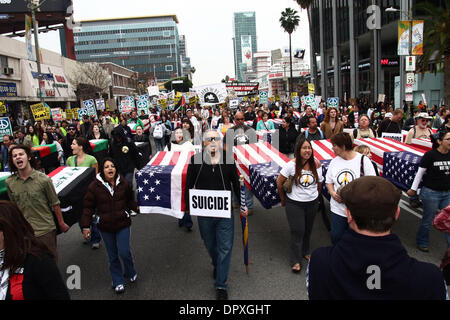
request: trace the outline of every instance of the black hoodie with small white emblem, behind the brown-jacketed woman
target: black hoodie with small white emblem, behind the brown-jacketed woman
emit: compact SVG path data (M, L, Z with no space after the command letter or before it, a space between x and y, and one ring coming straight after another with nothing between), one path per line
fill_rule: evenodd
M111 136L110 156L116 160L119 172L123 175L133 172L140 157L136 145L125 136L121 126L114 128ZM121 141L118 142L117 138L121 138Z

